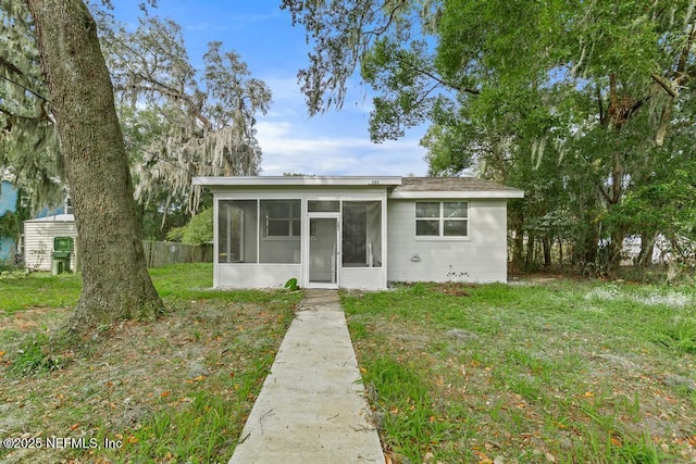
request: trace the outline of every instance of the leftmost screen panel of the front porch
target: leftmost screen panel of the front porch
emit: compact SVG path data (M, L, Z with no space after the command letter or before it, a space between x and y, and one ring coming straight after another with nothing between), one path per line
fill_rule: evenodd
M221 200L217 206L217 261L256 263L257 200Z

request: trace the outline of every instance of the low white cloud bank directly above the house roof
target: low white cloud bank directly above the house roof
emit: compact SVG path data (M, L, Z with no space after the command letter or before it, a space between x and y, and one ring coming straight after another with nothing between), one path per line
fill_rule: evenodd
M368 133L372 101L362 93L339 111L309 117L297 77L269 73L261 77L273 91L271 111L259 117L257 137L263 151L263 175L425 175L423 130L397 141L373 143Z

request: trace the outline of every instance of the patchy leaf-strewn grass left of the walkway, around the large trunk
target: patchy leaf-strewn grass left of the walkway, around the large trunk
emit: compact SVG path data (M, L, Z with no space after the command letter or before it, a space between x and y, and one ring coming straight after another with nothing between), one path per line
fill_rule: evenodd
M166 316L52 352L79 277L0 281L0 437L44 448L0 462L227 462L301 293L210 290L209 264L151 275Z

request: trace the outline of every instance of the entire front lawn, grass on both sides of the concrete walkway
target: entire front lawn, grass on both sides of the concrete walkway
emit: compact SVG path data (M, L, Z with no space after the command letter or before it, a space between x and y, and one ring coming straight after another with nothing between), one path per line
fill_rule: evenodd
M115 325L51 364L79 276L0 279L7 435L124 443L26 460L229 457L301 293L212 290L210 264L150 274L164 317ZM419 284L341 298L394 462L696 460L694 287Z

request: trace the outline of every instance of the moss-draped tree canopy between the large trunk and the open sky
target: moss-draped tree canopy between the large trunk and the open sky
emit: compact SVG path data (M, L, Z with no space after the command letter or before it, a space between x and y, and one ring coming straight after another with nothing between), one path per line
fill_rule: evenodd
M211 42L198 72L173 21L145 16L134 32L108 16L103 23L138 199L164 191L166 204L178 197L196 211L200 189L191 176L258 173L256 118L268 111L271 90L239 54Z

